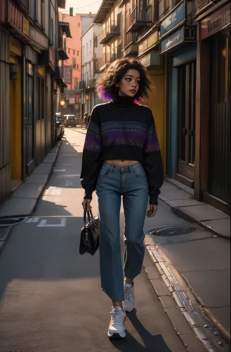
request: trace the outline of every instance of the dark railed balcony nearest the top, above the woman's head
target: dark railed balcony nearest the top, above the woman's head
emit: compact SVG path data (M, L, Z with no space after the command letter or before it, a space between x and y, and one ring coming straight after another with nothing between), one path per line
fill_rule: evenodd
M136 5L125 20L125 32L137 32L142 27L150 27L152 25L152 8L149 5L144 9L142 3Z

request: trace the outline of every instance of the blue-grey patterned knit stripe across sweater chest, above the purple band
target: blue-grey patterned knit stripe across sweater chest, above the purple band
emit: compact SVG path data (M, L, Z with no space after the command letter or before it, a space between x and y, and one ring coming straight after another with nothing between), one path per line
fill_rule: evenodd
M101 124L102 133L110 130L131 130L147 133L146 125L135 121L109 121Z

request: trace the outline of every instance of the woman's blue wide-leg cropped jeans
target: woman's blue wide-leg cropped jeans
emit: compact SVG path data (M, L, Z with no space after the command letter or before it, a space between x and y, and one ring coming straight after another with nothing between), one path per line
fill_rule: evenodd
M99 217L99 256L102 290L113 300L124 300L120 255L119 216L123 196L124 275L135 278L144 258L144 220L148 203L148 183L140 162L116 166L104 162L96 184Z

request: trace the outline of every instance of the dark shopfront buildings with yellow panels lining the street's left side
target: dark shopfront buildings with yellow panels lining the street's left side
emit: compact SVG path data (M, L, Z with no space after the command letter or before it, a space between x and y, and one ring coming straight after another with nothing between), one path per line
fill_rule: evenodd
M0 204L56 143L58 6L65 0L0 2Z

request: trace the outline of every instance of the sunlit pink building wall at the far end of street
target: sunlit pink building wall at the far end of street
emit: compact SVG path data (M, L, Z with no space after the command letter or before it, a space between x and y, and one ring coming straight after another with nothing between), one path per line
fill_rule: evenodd
M65 65L72 65L72 84L68 84L68 90L75 89L75 78L79 82L81 80L81 17L76 14L76 16L70 16L64 13L58 14L59 21L68 22L71 30L72 38L66 38L66 52L69 56L68 60L64 61ZM76 68L73 68L73 59L76 59Z

